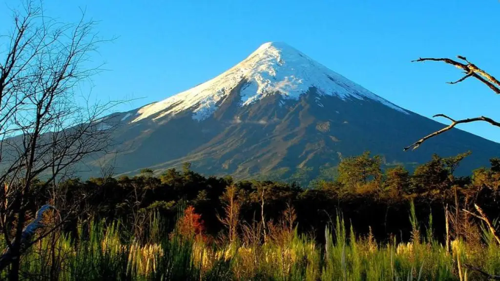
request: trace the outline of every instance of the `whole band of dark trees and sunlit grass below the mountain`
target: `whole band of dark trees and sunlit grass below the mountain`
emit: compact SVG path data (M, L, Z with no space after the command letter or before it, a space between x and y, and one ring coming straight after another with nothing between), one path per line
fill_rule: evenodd
M34 235L22 254L19 276L482 279L500 274L496 220L489 219L500 208L500 161L455 176L464 157L436 155L410 173L382 170L379 157L365 153L345 158L335 180L311 189L204 177L189 164L160 176L145 169L48 189L37 180L29 213L44 203L55 208L44 215L40 234L48 234Z

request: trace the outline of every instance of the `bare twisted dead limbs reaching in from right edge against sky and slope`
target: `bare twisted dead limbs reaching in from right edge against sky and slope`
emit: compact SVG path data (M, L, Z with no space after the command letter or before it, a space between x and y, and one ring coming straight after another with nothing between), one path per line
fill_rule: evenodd
M489 73L487 73L486 71L482 70L481 68L477 67L475 64L471 63L470 61L467 60L467 58L465 58L464 56L461 56L461 55L458 55L457 58L463 62L459 62L457 60L453 60L453 59L450 59L450 58L434 58L434 57L420 57L416 60L413 60L413 61L443 61L444 63L448 63L448 64L451 64L457 68L460 68L463 70L463 73L464 73L464 76L462 76L460 79L456 80L456 81L452 81L452 82L448 82L449 84L456 84L456 83L459 83L469 77L473 77L479 81L481 81L482 83L484 83L486 86L488 86L493 92L495 92L496 94L500 94L500 81L498 81L495 77L493 77L492 75L490 75ZM413 62L412 61L412 62ZM494 126L497 126L497 127L500 127L500 122L497 122L489 117L485 117L485 116L479 116L479 117L473 117L473 118L466 118L466 119L459 119L459 120L456 120L456 119L453 119L445 114L435 114L434 116L432 117L443 117L443 118L446 118L448 120L451 121L451 124L449 124L448 126L440 129L440 130L437 130L435 132L432 132L422 138L420 138L419 140L415 141L414 143L412 143L411 145L408 145L406 147L404 147L404 150L408 150L408 149L416 149L418 148L418 146L420 146L420 144L422 144L422 142L424 142L425 140L431 138L431 137L434 137L436 135L439 135L447 130L450 130L451 128L453 128L454 126L458 125L458 124L461 124L461 123L470 123L470 122L476 122L476 121L484 121L484 122L488 122Z

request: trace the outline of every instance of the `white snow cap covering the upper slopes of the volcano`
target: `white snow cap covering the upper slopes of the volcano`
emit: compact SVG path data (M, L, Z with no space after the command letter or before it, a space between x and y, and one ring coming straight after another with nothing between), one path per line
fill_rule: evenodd
M152 115L157 119L186 109L192 110L193 119L203 120L216 110L217 104L243 79L246 83L240 90L241 106L276 93L284 99L298 99L300 94L315 87L323 95L335 95L341 99L368 98L407 114L403 108L328 69L286 43L267 42L217 77L139 108L132 122Z

